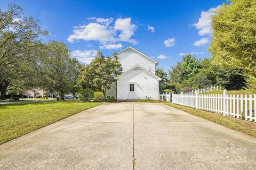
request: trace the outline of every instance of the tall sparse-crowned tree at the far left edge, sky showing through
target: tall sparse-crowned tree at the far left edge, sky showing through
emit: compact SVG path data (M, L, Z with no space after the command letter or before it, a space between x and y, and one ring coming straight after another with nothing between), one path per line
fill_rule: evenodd
M6 12L0 10L0 92L15 89L29 77L35 62L33 53L38 48L38 37L47 35L38 21L27 18L20 6L9 4ZM26 74L25 74L26 73ZM33 72L32 72L33 73Z

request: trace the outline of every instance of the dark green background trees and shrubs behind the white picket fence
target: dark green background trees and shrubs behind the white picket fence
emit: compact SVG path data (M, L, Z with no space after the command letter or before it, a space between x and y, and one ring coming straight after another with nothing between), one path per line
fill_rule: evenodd
M204 60L199 61L191 55L183 57L181 62L171 68L169 74L168 86L174 86L174 88L169 89L175 93L214 85L220 85L226 89L242 89L246 82L242 70L217 65L212 61L212 58L204 58Z

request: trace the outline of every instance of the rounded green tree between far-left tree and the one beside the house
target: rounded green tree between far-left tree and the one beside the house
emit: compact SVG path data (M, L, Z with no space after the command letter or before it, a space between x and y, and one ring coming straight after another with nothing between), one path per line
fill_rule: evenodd
M58 41L50 41L43 53L38 76L44 74L42 80L46 82L41 84L41 88L58 92L64 100L65 95L71 93L76 84L78 61L70 57L68 46Z

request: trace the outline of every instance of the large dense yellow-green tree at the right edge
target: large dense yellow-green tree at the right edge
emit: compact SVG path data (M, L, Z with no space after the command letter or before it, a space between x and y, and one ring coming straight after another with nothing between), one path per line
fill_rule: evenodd
M256 89L256 1L232 0L212 17L209 48L216 65L241 70Z

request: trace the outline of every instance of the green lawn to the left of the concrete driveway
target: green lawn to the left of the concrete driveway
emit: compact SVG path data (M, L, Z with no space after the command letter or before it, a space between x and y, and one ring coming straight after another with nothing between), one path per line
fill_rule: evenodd
M81 100L0 105L0 145L100 103Z

